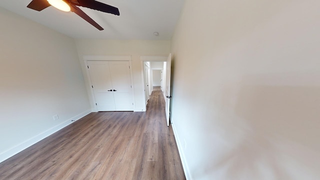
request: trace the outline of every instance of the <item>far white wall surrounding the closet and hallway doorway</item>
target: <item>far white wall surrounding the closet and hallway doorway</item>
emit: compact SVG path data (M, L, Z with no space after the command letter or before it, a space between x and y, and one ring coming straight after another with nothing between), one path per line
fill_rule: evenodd
M170 51L168 40L107 40L107 39L76 39L77 51L86 77L83 55L131 55L133 84L135 95L135 110L145 110L144 89L142 88L140 55L167 55ZM90 85L85 78L87 88ZM89 99L91 107L95 104Z

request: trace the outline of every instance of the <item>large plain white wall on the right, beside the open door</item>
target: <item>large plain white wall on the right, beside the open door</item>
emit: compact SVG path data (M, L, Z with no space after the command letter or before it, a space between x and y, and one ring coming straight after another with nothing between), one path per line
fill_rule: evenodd
M185 1L171 116L189 179L320 178L319 6Z

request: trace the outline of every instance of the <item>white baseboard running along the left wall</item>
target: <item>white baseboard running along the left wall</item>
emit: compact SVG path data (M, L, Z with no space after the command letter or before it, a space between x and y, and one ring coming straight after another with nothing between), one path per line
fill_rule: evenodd
M77 115L75 115L74 117L71 117L67 120L65 120L64 122L57 124L51 128L49 128L48 130L45 130L44 132L39 133L38 135L35 135L34 137L31 137L27 140L25 140L24 142L17 144L3 152L0 153L0 162L8 159L9 157L17 154L18 152L26 149L27 147L35 144L36 142L44 139L45 137L53 134L54 132L62 129L63 127L73 123L74 121L80 119L81 117L84 117L85 115L89 114L91 112L91 109L87 109Z

